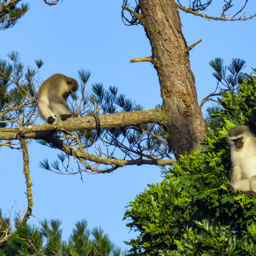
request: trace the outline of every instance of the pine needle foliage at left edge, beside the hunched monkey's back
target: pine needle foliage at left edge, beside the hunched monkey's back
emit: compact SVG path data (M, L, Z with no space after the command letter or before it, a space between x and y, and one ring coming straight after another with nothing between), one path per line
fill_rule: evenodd
M0 127L15 126L18 122L32 125L36 116L36 88L34 80L38 70L20 61L18 52L7 54L10 62L0 59ZM42 66L42 60L35 60Z

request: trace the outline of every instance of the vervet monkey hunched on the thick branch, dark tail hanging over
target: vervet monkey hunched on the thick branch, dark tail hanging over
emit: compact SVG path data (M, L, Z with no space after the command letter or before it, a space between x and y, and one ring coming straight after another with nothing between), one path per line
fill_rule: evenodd
M78 83L75 79L62 74L54 74L45 80L38 91L38 113L48 124L52 124L58 116L64 121L72 116L67 98L71 93L78 90ZM100 136L100 120L95 113L86 116L93 116L96 120L97 136Z

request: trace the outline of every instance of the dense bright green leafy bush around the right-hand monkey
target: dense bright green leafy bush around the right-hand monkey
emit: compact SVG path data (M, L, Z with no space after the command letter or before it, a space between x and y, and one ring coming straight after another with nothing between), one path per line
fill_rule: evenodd
M231 180L227 131L246 124L256 133L256 76L222 96L205 150L180 156L160 184L130 202L124 219L139 232L126 242L130 255L256 255L256 198L223 185Z

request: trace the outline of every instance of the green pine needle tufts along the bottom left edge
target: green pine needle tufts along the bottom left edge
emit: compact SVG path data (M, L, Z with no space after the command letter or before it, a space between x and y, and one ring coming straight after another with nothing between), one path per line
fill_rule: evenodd
M8 242L0 246L0 256L65 255L124 256L102 228L87 228L86 220L78 221L68 241L62 240L62 222L43 220L41 226L16 224Z

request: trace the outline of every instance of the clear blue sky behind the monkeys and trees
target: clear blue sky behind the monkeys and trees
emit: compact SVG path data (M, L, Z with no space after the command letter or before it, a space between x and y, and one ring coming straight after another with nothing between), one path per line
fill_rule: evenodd
M44 60L40 75L44 80L54 73L78 79L80 68L91 70L88 85L102 83L116 86L144 109L161 103L160 86L154 67L148 62L129 63L132 58L151 55L148 38L142 26L125 26L121 19L122 0L64 0L58 6L47 6L43 0L27 1L30 10L13 27L0 31L0 58L15 50L25 66L36 67L34 59ZM188 2L188 1L183 1ZM222 2L222 1L220 1ZM240 1L238 7L240 7ZM247 10L254 14L256 3ZM131 2L131 6L133 3ZM248 13L254 10L252 13ZM222 6L208 8L208 14L220 14ZM256 18L244 22L208 21L180 11L182 31L188 42L200 42L190 51L191 68L196 78L198 101L214 91L216 80L209 61L221 57L225 64L232 58L246 60L244 72L256 68ZM203 112L205 108L203 108ZM58 150L32 143L29 146L30 171L34 184L33 214L30 223L43 218L59 218L63 235L68 238L73 224L86 218L89 227L101 226L119 246L134 232L122 221L125 206L144 191L147 184L161 182L160 169L154 166L129 166L112 174L62 176L38 167L39 161L56 159ZM22 154L0 148L2 175L0 208L26 209L25 178ZM76 168L76 167L74 167ZM14 210L12 210L14 211Z

